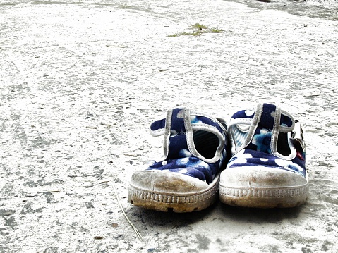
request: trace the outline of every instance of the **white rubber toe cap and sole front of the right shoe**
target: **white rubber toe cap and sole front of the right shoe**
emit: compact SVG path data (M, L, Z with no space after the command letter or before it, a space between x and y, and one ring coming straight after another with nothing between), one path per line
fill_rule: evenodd
M219 183L219 199L231 206L289 208L304 204L307 198L308 180L280 169L226 169Z

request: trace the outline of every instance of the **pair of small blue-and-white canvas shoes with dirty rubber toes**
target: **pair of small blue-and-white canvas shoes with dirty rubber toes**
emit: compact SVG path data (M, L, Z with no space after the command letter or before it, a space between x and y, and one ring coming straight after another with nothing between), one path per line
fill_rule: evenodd
M294 207L306 202L308 174L303 130L273 104L222 118L172 109L150 126L164 135L164 155L136 171L131 204L157 211L190 212L217 198L232 206Z

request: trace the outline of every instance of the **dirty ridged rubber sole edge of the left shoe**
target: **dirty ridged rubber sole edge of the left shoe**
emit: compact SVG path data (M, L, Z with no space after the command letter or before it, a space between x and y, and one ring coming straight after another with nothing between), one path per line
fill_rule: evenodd
M135 206L156 211L188 213L206 209L218 198L219 178L207 189L193 193L152 192L129 186L128 199Z

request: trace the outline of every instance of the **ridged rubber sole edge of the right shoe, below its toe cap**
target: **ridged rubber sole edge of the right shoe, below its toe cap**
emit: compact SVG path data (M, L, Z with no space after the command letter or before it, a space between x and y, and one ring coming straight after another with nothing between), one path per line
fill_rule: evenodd
M296 187L227 187L219 185L219 199L230 206L289 208L308 198L308 184Z

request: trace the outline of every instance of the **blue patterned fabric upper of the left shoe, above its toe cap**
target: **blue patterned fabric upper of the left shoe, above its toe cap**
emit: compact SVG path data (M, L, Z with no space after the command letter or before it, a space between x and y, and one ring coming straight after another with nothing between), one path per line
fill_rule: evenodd
M227 156L226 125L220 119L188 109L174 109L150 126L153 136L164 135L164 155L148 170L177 172L212 182Z

